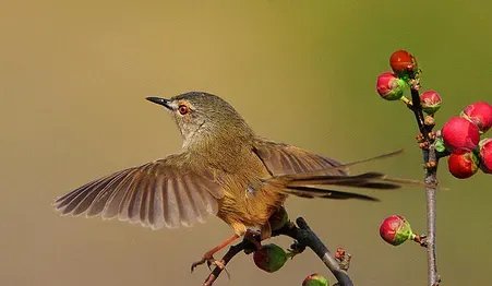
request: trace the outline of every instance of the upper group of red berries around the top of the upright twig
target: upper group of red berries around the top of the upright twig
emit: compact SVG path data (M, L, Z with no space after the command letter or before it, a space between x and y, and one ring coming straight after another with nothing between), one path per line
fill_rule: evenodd
M406 50L397 50L389 58L389 64L393 72L383 72L377 76L377 93L386 100L400 99L411 108L412 103L404 96L404 92L420 80L417 59ZM427 114L424 124L430 129L435 124L434 115L441 104L442 98L435 91L420 94L420 108ZM487 102L469 105L459 117L452 117L444 124L441 130L442 138L436 139L435 146L442 154L451 154L447 163L454 177L469 178L479 168L485 174L492 174L492 139L480 141L480 135L491 127L492 106ZM428 147L422 142L421 146Z

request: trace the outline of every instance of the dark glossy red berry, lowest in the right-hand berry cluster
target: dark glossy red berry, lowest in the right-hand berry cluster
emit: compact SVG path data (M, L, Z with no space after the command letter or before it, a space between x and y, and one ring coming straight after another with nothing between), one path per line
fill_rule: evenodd
M459 150L447 158L449 172L458 179L467 179L478 170L478 158L471 151Z

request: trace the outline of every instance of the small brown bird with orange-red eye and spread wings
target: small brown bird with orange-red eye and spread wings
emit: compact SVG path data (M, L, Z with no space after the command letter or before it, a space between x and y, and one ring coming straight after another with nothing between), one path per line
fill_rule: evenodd
M146 99L171 115L183 141L180 152L104 176L53 204L62 215L99 215L152 229L188 227L215 215L233 235L192 267L204 262L218 265L213 255L250 229L267 238L269 216L289 195L376 201L325 188L400 188L382 172L349 175L348 165L336 159L256 135L230 104L214 94Z

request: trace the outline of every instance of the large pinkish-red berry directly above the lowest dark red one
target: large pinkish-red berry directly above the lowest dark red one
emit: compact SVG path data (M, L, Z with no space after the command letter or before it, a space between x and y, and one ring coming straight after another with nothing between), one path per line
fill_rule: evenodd
M478 128L463 117L452 117L441 130L444 144L454 152L457 150L475 150L480 141Z

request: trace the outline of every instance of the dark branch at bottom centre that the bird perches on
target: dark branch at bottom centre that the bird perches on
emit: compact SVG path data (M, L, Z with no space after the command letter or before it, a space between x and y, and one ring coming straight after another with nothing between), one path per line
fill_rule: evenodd
M273 231L272 236L274 237L283 235L293 238L296 240L296 249L299 250L299 252L302 252L305 247L311 248L337 278L339 286L353 286L353 283L351 282L347 272L340 267L338 261L332 255L329 250L321 241L316 234L314 234L314 231L309 227L304 218L298 217L296 219L296 223L298 226L292 223L286 224L283 228ZM240 243L230 247L229 251L227 251L220 262L223 262L224 265L227 265L227 263L239 252L244 251L247 253L251 253L254 250L256 250L254 243L249 241L248 239L243 239ZM224 269L216 266L202 284L202 286L213 285L223 270Z

